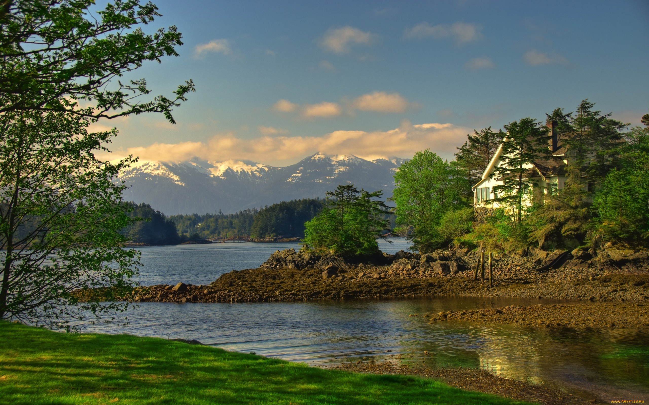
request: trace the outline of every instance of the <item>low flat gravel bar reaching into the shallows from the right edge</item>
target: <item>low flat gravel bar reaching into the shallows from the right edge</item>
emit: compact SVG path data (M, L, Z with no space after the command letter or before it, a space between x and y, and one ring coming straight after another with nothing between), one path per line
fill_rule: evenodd
M583 303L572 305L533 305L496 309L462 310L424 314L430 323L471 321L509 323L535 327L634 328L649 327L649 305L644 303ZM411 314L414 315L414 314Z

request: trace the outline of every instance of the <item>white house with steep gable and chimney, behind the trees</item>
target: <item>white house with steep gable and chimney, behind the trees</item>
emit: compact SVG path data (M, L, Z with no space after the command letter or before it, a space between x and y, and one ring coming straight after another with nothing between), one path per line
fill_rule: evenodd
M561 139L557 138L557 122L552 121L548 124L552 130L552 137L550 138L548 148L552 152L550 159L539 159L531 165L525 165L528 169L526 178L535 179L538 184L538 189L535 192L544 192L555 194L559 189L563 189L566 180L566 167L567 157L565 156L566 148L561 146ZM504 141L507 141L505 137ZM500 205L493 202L498 196L494 193L493 188L496 185L503 185L503 178L496 178L495 170L501 167L504 162L502 157L502 143L498 146L498 150L494 154L489 165L482 174L482 179L472 187L473 189L473 202L476 208L498 208ZM524 203L531 205L532 201L529 197L524 199Z

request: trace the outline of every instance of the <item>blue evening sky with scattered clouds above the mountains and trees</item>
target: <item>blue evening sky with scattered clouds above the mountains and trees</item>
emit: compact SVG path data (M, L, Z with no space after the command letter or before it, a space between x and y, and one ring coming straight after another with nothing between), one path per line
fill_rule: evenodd
M649 111L646 0L154 3L163 16L145 30L176 25L180 56L125 78L167 96L191 78L196 93L177 124L94 124L120 132L110 158L452 159L475 129L545 121L585 98L632 125Z

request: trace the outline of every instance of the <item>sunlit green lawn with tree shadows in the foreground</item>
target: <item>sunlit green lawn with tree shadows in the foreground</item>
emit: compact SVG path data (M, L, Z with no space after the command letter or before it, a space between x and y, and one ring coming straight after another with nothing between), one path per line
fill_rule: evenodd
M413 376L324 370L130 335L0 321L2 404L523 404Z

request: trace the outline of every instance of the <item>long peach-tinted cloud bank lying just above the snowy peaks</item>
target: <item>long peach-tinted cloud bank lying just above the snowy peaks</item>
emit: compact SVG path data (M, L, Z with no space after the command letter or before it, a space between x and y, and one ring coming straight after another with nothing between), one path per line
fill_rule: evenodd
M154 143L146 147L129 148L125 154L133 154L143 160L171 162L186 161L197 156L211 162L247 159L267 165L290 165L315 152L354 154L360 157L411 157L418 150L430 148L450 159L456 152L456 147L465 141L467 133L471 133L470 128L453 124L412 125L403 121L398 128L389 131L340 130L321 137L266 135L241 139L228 132L215 135L206 143Z

